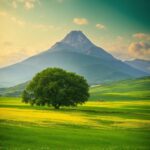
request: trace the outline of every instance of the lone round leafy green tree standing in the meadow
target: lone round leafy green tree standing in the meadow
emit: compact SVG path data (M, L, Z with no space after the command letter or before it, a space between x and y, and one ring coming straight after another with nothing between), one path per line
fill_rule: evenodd
M87 81L75 73L60 68L47 68L35 77L23 91L23 102L31 105L77 106L89 97Z

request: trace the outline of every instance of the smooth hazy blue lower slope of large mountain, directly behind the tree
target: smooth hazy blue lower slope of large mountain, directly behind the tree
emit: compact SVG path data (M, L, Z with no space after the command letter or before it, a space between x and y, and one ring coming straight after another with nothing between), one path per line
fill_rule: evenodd
M99 79L101 81L112 81L130 77L130 75L122 73L119 68L111 67L108 62L100 61L98 58L64 51L50 52L50 54L47 52L40 56L32 57L19 64L0 70L2 72L0 76L3 78L3 82L7 82L9 79L15 85L31 79L36 72L44 68L54 66L81 74L88 79L89 83L93 84L101 83ZM26 80L23 77L26 77Z

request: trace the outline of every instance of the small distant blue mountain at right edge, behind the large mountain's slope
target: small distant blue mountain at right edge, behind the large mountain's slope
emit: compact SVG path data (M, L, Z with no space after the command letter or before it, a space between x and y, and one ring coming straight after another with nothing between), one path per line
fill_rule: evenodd
M149 60L142 60L142 59L134 59L130 61L125 61L131 67L139 69L141 71L147 72L150 74L150 61Z

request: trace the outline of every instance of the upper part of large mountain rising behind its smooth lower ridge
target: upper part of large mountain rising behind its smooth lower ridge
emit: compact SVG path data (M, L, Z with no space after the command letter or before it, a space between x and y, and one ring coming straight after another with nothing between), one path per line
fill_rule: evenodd
M114 59L104 49L94 45L82 31L71 31L63 40L57 42L50 51L70 51L99 57L101 59Z

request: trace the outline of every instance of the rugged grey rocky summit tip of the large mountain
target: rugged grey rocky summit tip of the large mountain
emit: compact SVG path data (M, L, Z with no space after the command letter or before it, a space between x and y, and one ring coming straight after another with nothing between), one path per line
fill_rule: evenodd
M74 48L90 48L93 43L83 34L82 31L71 31L65 38L61 41L63 43L69 44Z

